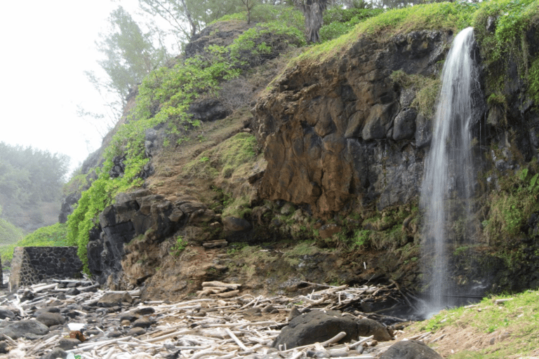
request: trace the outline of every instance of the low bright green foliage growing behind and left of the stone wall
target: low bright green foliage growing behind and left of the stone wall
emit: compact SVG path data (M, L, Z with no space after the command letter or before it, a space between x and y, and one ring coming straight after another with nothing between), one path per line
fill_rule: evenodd
M0 219L1 226L1 219ZM13 259L13 249L15 247L58 247L69 245L67 241L67 224L53 224L52 226L45 226L30 233L25 238L18 236L20 239L16 243L9 245L3 245L0 247L0 254L2 263L11 262Z

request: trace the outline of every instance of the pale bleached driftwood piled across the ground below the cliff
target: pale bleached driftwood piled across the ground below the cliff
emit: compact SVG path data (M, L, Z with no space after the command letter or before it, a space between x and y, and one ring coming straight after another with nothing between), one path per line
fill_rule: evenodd
M29 318L41 306L63 306L80 304L84 308L94 306L106 291L95 291L96 285L84 283L86 286L78 288L76 295L65 294L59 283L35 285L23 288L14 299L0 297L0 305L16 311L20 318ZM144 334L122 335L111 337L112 327L117 332L122 329L118 313L102 313L96 324L95 320L86 325L86 330L97 329L100 334L88 335L88 339L67 352L81 355L81 358L185 358L185 359L239 359L239 358L288 358L298 359L307 355L317 357L343 357L375 358L373 353L362 354L365 347L377 346L372 337L359 338L358 341L335 346L334 343L342 339L337 336L324 343L312 344L300 348L272 348L272 341L279 335L280 329L288 323L288 314L294 309L303 311L310 309L340 309L348 304L361 300L380 298L381 296L397 295L398 289L380 286L347 287L347 285L330 286L306 283L312 286L309 294L297 297L264 297L262 295L239 295L240 284L207 282L199 291L196 299L165 304L161 301L140 302L136 297L140 291L130 291L135 298L131 308L122 308L121 311L135 309L152 309L149 315L156 323L149 327ZM95 292L93 292L94 290ZM28 296L27 292L32 292ZM31 300L22 301L25 297ZM64 293L58 300L58 293ZM270 308L271 310L266 310ZM253 310L254 309L254 310ZM260 309L260 317L253 316ZM95 311L102 308L95 306ZM90 318L91 313L83 313ZM86 317L84 317L86 318ZM253 319L254 318L254 319ZM258 320L257 318L260 318ZM397 318L398 319L398 318ZM77 319L79 320L79 319ZM404 320L403 320L404 321ZM67 323L66 323L67 324ZM39 358L58 346L63 337L69 336L67 325L63 332L49 334L46 339L7 339L11 346L18 347L24 353L24 358ZM330 348L330 346L332 346ZM381 345L378 345L381 347Z

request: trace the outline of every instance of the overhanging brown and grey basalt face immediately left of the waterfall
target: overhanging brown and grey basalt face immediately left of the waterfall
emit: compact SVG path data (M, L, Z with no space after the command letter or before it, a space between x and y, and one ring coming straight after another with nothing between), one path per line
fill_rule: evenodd
M260 197L327 216L351 201L381 210L418 196L429 119L411 106L415 93L390 75L437 75L452 37L363 38L338 58L288 69L253 109L268 162Z

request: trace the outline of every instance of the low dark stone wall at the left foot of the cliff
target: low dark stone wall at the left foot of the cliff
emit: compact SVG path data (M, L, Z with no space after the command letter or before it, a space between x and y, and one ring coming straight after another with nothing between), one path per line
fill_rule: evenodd
M82 262L76 247L16 247L13 250L9 290L50 278L80 276Z

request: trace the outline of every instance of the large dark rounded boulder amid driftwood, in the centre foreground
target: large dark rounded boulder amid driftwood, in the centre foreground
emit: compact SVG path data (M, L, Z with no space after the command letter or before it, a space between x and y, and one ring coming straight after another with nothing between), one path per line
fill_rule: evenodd
M340 332L347 333L342 341L357 339L356 322L352 318L341 316L339 311L310 311L293 318L281 330L281 334L273 341L272 346L279 348L280 345L286 345L288 349L295 348L326 341Z

